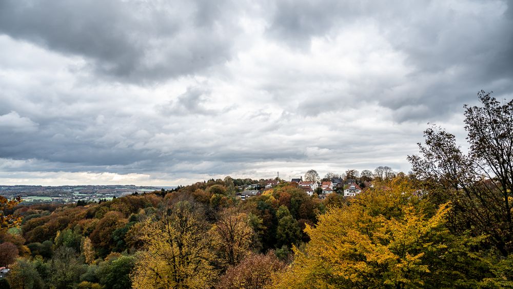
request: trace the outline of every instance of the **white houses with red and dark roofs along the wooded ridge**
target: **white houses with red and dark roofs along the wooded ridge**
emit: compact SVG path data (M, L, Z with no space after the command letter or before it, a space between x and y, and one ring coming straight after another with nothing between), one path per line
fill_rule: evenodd
M346 181L342 179L334 178L331 181L325 182L309 182L303 181L303 178L291 179L290 182L298 183L299 187L304 189L308 196L313 196L313 194L318 194L320 199L326 199L329 194L333 194L336 191L342 191L344 193L344 197L354 197L360 192L362 192L362 188L358 185L357 180L348 179ZM280 181L278 180L266 180L265 188L272 188L278 185ZM368 183L366 186L370 186ZM320 188L320 189L319 189ZM251 198L253 196L257 196L260 194L259 190L244 190L239 192L237 196L243 200Z

